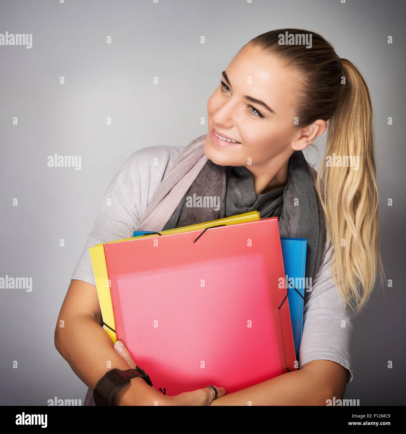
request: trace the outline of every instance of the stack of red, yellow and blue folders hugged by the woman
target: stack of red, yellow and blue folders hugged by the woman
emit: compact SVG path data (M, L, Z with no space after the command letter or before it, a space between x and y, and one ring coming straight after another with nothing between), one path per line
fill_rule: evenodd
M133 235L89 251L106 332L156 390L232 393L297 369L306 240L257 211Z

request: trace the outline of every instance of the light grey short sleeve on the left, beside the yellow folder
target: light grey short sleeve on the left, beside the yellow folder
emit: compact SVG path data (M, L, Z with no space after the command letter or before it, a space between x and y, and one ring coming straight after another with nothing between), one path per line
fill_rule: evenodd
M132 237L152 194L183 148L151 146L134 152L112 179L71 279L96 286L89 248Z

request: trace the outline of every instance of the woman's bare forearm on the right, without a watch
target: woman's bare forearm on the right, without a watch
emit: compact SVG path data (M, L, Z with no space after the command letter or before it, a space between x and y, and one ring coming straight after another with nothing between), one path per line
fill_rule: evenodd
M331 360L312 360L299 371L224 395L210 405L327 405L343 399L348 369Z

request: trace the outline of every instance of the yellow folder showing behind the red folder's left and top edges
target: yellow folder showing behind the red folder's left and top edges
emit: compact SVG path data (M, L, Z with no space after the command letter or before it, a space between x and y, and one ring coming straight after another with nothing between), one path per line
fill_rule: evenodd
M191 230L202 230L209 226L216 224L239 224L249 221L260 220L261 217L258 211L251 211L249 213L238 214L236 216L225 217L219 220L213 220L206 223L191 224L189 226L178 227L175 229L168 229L160 231L162 235L169 235L171 233L188 232ZM118 243L120 241L135 240L138 238L156 237L156 234L139 235L138 237L125 238L124 240L110 241L110 243ZM104 244L104 243L103 243ZM97 244L95 247L90 247L90 258L92 260L93 273L96 280L97 295L99 297L100 310L102 312L102 319L105 330L113 342L116 342L116 325L114 322L113 306L110 295L110 282L107 275L106 257L104 256L103 244Z

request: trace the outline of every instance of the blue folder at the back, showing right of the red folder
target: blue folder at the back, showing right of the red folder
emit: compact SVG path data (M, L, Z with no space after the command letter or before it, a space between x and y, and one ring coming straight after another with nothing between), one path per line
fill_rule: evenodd
M132 236L139 237L140 235L149 232L155 231L135 230ZM305 287L303 283L305 281L306 247L307 240L304 238L281 237L282 258L284 261L285 276L287 276L287 299L289 302L290 322L292 323L293 341L297 361L299 360L299 348L302 340L303 328Z

